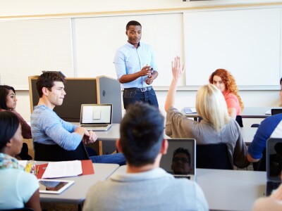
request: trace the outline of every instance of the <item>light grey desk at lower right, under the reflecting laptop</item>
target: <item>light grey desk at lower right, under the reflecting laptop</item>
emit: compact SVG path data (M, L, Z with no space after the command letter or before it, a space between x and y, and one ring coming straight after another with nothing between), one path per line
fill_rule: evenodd
M121 166L114 174L125 171ZM196 174L210 210L251 210L255 200L264 196L266 172L197 169Z

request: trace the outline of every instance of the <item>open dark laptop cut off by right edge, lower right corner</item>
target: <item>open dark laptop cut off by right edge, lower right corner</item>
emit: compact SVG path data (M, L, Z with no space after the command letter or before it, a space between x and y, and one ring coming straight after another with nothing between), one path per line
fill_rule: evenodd
M282 139L269 138L266 141L266 196L281 184Z

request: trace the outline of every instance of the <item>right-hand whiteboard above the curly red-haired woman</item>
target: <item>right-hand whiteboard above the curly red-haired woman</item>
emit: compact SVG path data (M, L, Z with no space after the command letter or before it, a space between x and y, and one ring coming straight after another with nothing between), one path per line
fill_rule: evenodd
M281 9L183 14L186 85L207 84L218 68L240 87L262 89L281 77Z

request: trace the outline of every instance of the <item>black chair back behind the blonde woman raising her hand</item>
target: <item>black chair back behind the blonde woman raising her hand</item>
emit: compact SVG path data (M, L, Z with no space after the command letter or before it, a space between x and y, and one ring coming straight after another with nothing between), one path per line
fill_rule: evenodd
M226 143L197 144L196 166L202 169L233 170Z

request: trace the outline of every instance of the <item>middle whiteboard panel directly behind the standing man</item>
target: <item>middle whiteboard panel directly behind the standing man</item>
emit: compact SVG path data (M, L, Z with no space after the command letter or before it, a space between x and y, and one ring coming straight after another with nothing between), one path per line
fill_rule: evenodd
M130 20L141 23L141 41L155 51L159 76L153 86L171 84L171 60L183 56L183 13L74 18L75 76L116 78L114 55L127 41L125 25Z

